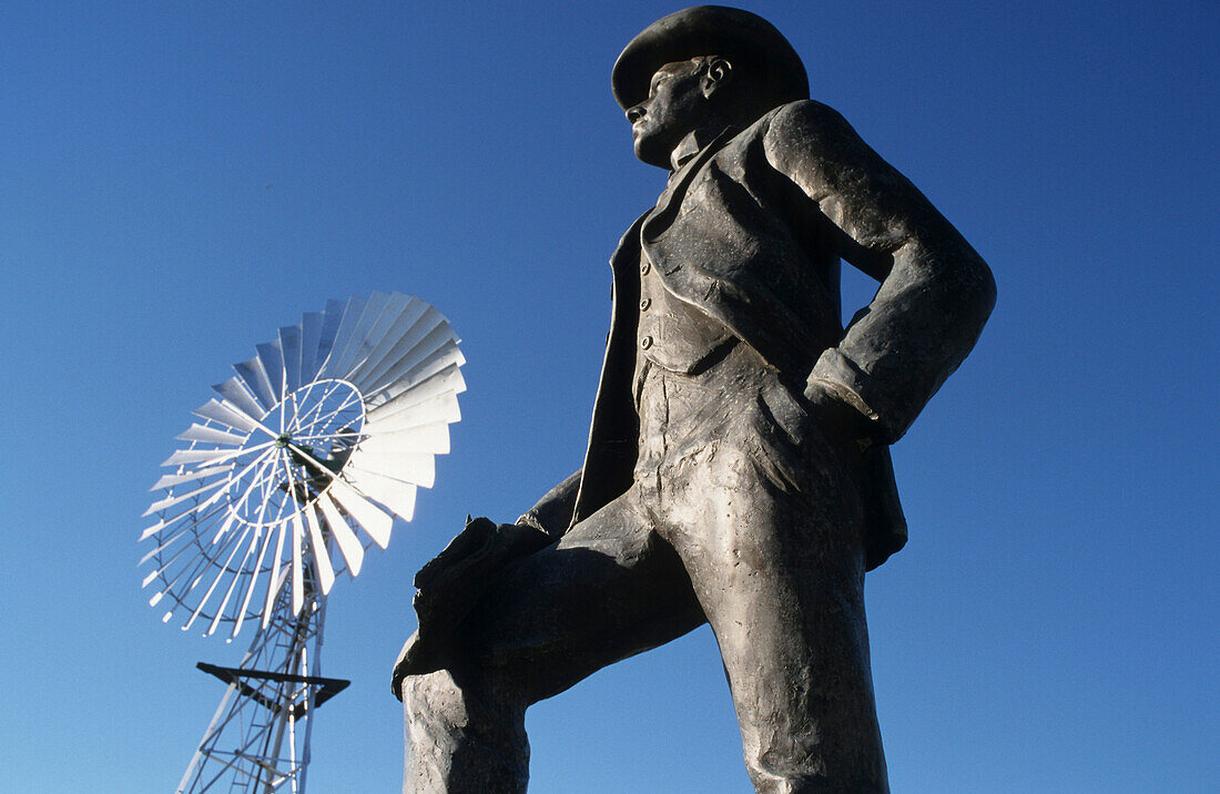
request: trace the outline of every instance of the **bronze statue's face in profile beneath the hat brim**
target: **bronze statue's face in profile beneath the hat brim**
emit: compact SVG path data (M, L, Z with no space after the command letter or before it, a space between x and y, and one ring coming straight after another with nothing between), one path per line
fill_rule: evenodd
M670 167L670 152L708 115L703 59L676 61L656 70L648 99L627 109L636 156L650 166Z

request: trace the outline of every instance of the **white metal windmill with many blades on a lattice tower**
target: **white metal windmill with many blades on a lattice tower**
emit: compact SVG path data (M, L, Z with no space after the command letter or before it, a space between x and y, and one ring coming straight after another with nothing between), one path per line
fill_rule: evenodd
M237 667L199 663L228 689L179 793L304 792L314 710L349 683L320 672L326 596L410 521L465 389L448 321L401 294L328 301L256 350L177 437L140 535L165 622L255 626Z

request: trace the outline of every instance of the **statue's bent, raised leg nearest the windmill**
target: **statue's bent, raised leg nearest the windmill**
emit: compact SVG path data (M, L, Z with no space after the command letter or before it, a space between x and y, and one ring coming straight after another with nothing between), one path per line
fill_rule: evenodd
M500 577L462 627L460 663L404 679L404 790L523 792L528 705L703 622L628 492Z

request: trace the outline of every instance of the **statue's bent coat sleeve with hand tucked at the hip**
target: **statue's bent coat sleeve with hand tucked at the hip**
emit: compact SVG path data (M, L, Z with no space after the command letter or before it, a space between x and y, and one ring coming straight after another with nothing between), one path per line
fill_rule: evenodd
M842 256L881 284L839 343L821 382L893 443L978 339L996 302L982 257L905 177L834 110L786 105L764 134L767 161L842 229Z

